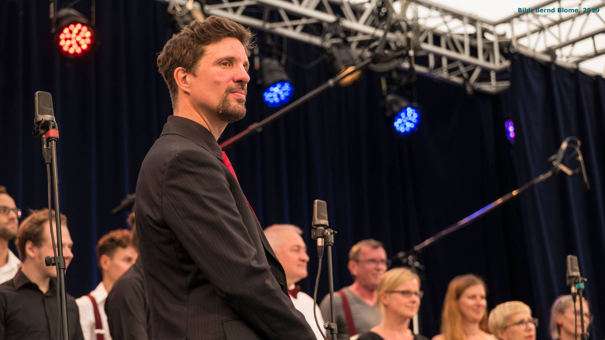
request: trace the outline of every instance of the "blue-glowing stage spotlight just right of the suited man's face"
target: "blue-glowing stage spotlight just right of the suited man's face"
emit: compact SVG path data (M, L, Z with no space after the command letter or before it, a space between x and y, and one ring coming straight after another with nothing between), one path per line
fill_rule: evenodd
M260 60L259 80L263 86L263 101L267 106L277 108L292 99L294 87L286 73L286 68L272 57Z

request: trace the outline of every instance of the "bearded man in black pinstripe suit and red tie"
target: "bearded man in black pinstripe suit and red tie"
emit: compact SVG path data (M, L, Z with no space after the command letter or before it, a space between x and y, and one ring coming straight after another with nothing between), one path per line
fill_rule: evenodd
M137 229L153 339L314 339L217 139L246 114L252 34L211 16L158 57L174 116L143 161Z

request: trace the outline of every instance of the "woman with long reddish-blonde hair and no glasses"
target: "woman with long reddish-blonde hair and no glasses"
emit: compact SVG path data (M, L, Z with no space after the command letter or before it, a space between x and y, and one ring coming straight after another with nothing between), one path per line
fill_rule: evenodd
M441 334L432 340L496 340L488 333L486 286L473 274L456 276L445 293Z

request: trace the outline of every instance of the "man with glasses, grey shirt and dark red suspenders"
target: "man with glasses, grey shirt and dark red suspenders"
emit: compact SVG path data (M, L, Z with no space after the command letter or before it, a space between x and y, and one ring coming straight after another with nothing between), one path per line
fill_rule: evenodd
M348 252L348 271L353 284L334 294L338 340L356 339L381 321L376 304L380 276L387 271L387 252L382 242L373 239L356 243ZM319 304L325 321L330 320L330 296ZM327 333L329 335L329 333Z

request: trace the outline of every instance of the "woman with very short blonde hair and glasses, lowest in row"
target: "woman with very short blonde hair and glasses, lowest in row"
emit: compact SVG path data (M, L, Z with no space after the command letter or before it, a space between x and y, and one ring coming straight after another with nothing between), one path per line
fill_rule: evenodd
M489 332L500 340L534 340L538 319L521 301L508 301L489 312Z

